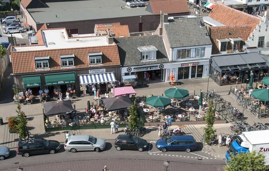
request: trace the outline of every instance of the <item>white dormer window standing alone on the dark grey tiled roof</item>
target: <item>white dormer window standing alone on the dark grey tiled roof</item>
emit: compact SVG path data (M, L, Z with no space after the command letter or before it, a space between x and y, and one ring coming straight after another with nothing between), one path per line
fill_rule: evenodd
M155 46L138 46L138 50L141 52L141 60L156 60L156 52L158 49Z

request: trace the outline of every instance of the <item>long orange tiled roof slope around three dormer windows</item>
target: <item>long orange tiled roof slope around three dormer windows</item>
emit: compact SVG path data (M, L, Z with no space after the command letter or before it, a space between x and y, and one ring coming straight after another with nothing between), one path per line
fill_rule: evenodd
M88 53L102 52L102 64L89 64ZM60 55L74 54L73 67L62 67ZM38 73L47 71L72 70L72 69L87 69L96 67L119 66L120 57L116 44L96 47L81 47L68 49L50 49L37 51L12 51L12 71L14 74L22 73ZM36 70L35 57L49 56L49 69Z

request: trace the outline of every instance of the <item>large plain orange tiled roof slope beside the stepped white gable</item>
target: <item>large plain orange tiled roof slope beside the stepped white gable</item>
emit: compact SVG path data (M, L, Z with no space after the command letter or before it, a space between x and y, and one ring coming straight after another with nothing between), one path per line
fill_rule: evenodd
M256 28L257 24L260 23L260 19L258 17L219 3L217 3L209 13L209 17L225 25L251 25L251 31L248 35L250 35L254 28Z

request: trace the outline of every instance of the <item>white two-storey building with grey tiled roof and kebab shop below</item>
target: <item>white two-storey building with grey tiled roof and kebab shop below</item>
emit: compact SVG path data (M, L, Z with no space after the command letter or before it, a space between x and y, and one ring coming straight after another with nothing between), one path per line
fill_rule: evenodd
M212 43L202 18L179 18L163 21L156 34L163 36L169 63L166 81L203 78L209 72Z

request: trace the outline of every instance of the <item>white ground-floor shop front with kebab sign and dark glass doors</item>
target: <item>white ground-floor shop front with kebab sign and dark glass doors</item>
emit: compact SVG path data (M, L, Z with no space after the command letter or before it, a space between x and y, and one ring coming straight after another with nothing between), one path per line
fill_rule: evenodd
M166 69L166 80L169 81L171 74L176 80L203 78L208 75L208 66L208 60L192 63L170 63L170 68Z

